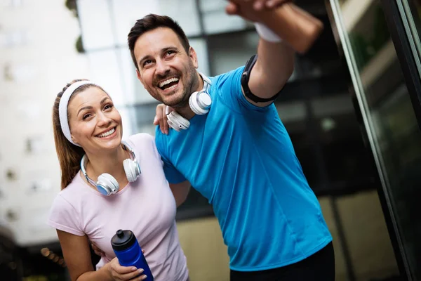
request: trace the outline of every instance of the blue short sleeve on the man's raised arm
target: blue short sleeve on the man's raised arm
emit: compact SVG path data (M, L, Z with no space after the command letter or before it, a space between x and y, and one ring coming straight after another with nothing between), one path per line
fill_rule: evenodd
M241 90L241 75L244 66L236 68L230 72L220 74L215 77L212 86L215 86L218 95L224 103L232 110L243 112L244 110L253 110L257 112L267 112L267 108L271 105L260 107L250 103Z

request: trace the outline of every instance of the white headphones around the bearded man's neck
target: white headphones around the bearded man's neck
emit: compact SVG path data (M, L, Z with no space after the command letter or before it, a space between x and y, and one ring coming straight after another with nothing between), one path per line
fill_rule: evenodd
M210 105L212 104L212 98L210 98L210 85L212 84L210 79L203 73L199 72L203 79L203 89L192 93L189 98L189 107L196 115L206 115L209 112ZM168 106L166 107L166 116L168 118L168 125L175 131L189 129L189 120L182 117L178 112L169 112Z

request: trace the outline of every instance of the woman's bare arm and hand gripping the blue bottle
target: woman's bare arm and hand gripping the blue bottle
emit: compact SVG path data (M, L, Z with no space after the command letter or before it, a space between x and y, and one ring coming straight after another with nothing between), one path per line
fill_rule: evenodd
M113 259L95 271L92 266L91 251L86 235L77 236L62 230L57 230L57 234L72 281L131 280L140 275L137 268L120 266L117 259ZM133 280L143 280L145 279L144 276L138 276Z

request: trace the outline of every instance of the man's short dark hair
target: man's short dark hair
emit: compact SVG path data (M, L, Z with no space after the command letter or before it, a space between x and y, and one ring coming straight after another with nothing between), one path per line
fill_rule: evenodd
M149 15L145 15L144 18L137 20L135 25L133 25L131 28L130 32L128 32L127 36L128 48L130 49L131 57L137 70L139 70L139 67L135 58L135 43L142 34L154 30L158 27L168 27L173 30L173 32L175 32L175 34L177 34L178 38L180 39L182 46L185 48L185 51L189 53L189 39L187 39L185 32L182 30L180 25L178 25L178 22L166 15L155 15L150 13Z

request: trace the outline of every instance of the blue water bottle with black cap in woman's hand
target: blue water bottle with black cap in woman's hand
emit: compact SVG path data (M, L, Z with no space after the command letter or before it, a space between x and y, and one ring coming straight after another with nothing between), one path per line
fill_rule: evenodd
M147 275L145 281L154 281L154 276L152 276L151 270L147 265L138 240L131 230L117 230L111 239L111 245L121 266L143 268L143 272L140 275Z

